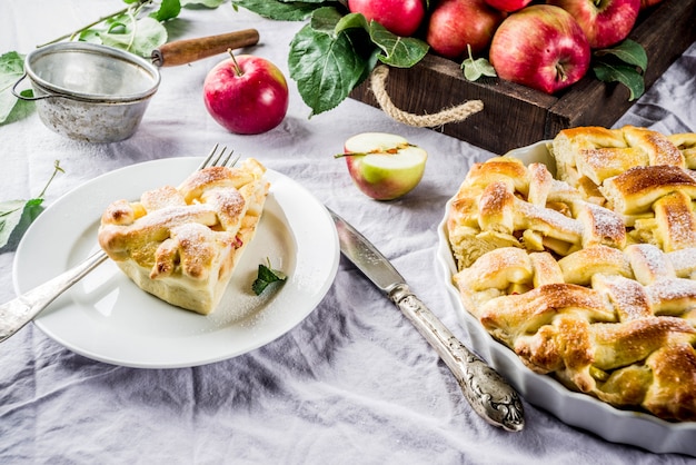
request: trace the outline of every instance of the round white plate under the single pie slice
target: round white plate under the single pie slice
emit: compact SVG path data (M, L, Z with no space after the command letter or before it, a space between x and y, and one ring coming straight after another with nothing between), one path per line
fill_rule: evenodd
M106 207L145 190L178 186L200 158L132 165L66 194L27 230L14 258L14 289L23 293L97 251ZM140 290L110 260L76 284L34 324L87 357L131 367L203 365L245 354L302 321L334 283L338 235L326 208L290 178L268 170L271 184L256 236L233 271L219 307L208 316L173 307ZM287 280L260 296L251 283L264 264Z

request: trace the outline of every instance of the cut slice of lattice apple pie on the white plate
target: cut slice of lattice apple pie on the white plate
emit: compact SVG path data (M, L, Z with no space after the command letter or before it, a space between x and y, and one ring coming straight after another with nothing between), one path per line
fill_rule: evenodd
M269 190L265 171L249 158L205 168L139 201L115 201L101 217L99 245L141 289L207 315L256 233Z

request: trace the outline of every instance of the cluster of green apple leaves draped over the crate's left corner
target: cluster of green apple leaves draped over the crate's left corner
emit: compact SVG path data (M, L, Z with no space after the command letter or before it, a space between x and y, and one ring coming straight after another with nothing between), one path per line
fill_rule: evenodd
M290 42L290 78L311 109L311 116L336 108L360 85L378 61L410 68L429 50L417 38L396 36L360 13L347 11L345 2L306 0L231 0L274 20L306 20Z

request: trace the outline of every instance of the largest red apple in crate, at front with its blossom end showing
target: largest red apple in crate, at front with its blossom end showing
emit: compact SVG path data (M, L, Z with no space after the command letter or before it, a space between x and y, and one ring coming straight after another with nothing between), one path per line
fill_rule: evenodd
M500 79L554 93L585 76L590 55L587 38L570 13L533 4L503 21L489 59Z

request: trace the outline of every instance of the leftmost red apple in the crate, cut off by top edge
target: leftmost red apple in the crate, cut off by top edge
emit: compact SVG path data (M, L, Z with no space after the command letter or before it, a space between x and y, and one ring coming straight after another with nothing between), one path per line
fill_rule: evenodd
M412 36L426 16L422 0L348 0L348 10L401 37Z

